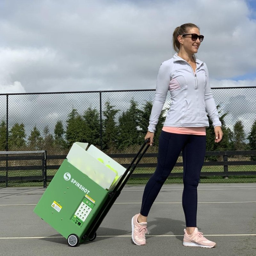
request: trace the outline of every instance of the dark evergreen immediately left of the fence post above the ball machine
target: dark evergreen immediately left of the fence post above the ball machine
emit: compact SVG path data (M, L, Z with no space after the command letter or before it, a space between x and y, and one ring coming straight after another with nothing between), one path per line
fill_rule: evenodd
M85 121L85 140L94 146L100 145L100 114L97 109L87 108L83 115Z

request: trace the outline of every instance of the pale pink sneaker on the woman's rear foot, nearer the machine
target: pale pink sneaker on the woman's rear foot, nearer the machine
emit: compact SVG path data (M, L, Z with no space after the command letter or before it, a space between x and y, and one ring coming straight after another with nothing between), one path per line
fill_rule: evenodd
M138 222L138 216L140 214L136 214L132 217L132 241L134 244L137 245L144 245L146 244L146 232L148 233L147 229L147 222Z

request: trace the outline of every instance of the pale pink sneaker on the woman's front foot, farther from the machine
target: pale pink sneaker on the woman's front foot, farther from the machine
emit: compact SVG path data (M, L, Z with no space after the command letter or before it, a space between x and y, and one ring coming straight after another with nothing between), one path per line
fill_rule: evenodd
M184 246L198 246L203 248L212 248L216 245L216 243L206 239L203 236L203 233L198 231L198 228L195 228L193 234L188 235L186 229L184 229L184 238L183 245Z

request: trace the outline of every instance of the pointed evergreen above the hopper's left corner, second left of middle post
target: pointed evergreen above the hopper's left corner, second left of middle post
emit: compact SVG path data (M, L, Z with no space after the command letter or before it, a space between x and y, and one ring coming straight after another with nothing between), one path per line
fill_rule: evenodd
M75 108L72 109L71 113L68 115L67 130L66 130L66 140L68 147L71 147L73 143L77 142L87 142L85 140L85 122L81 115L78 114Z

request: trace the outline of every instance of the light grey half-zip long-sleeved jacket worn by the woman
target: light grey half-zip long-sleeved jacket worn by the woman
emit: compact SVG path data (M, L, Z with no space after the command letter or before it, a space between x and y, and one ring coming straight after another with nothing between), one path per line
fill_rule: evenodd
M164 126L209 126L206 112L214 127L221 126L206 64L196 59L196 73L194 73L190 64L175 54L172 59L164 61L160 66L149 118L149 132L156 130L168 91L171 93L172 102Z

